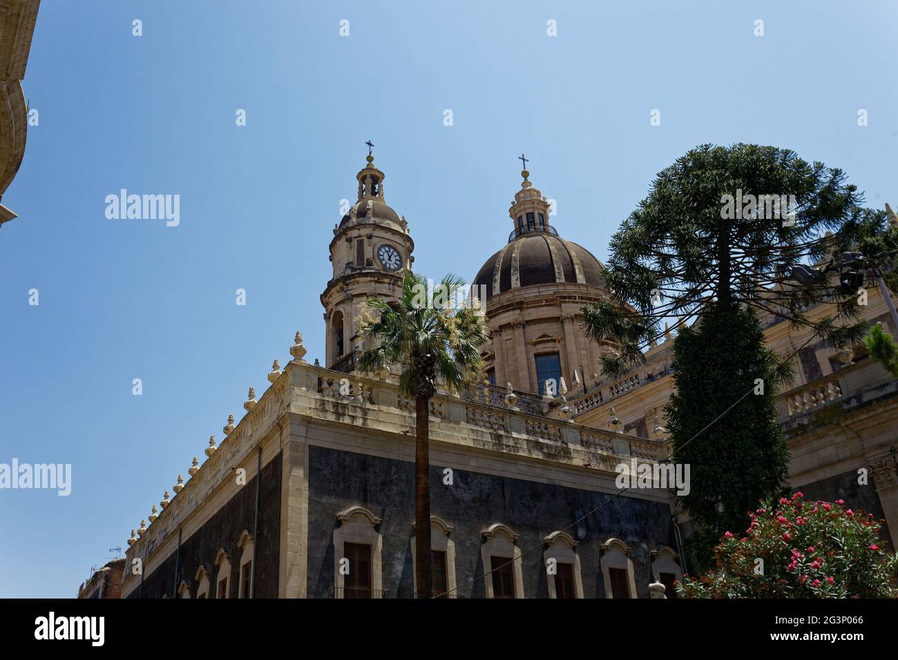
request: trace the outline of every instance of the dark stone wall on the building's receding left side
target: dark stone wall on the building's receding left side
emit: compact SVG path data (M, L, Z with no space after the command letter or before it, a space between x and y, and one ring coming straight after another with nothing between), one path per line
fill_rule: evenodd
M277 598L277 577L280 552L280 480L281 454L262 466L259 491L259 530L256 538L256 598ZM198 583L193 579L200 565L212 571L209 576L209 598L216 597L218 579L213 562L216 552L224 548L231 555L231 577L228 580L228 597L239 594L240 558L242 549L237 547L243 530L252 533L256 506L256 478L249 480L237 491L225 506L219 509L198 532L183 541L180 546L180 576L190 582L190 597L197 595ZM144 576L143 595L137 587L129 598L172 597L175 586L175 557L167 557L162 565Z

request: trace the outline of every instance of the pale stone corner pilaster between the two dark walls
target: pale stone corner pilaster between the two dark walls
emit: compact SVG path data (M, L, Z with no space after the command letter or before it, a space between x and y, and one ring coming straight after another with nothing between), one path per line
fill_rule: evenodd
M288 422L281 456L278 598L305 598L308 584L309 480L306 425Z

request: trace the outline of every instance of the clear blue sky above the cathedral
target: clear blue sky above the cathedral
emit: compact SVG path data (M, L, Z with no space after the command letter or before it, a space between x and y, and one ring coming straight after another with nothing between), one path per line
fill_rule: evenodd
M0 462L71 463L72 492L0 490L0 596L74 596L296 330L323 357L328 243L365 140L430 277L470 281L506 242L522 152L559 232L599 259L656 172L706 142L792 148L898 207L896 18L872 1L43 0L23 82L40 124L0 228ZM108 219L123 188L180 195L180 224Z

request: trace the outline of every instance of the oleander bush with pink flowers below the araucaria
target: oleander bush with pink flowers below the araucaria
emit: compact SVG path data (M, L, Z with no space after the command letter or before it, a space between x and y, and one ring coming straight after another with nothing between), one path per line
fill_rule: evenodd
M872 514L795 493L762 502L749 520L744 534L721 537L716 569L683 576L681 597L898 597L898 555L886 549Z

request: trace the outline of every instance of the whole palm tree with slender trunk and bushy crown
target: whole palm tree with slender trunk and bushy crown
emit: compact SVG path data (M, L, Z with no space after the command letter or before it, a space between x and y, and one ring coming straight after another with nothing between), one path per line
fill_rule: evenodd
M374 372L401 365L399 386L415 400L415 553L417 597L430 598L430 481L428 429L430 399L436 382L457 392L471 376L480 377L480 346L487 340L484 317L477 302L453 305L464 286L460 277L447 275L427 295L427 280L407 273L399 301L368 298L357 326L358 334L377 344L358 360L359 370ZM439 594L437 594L439 595Z

